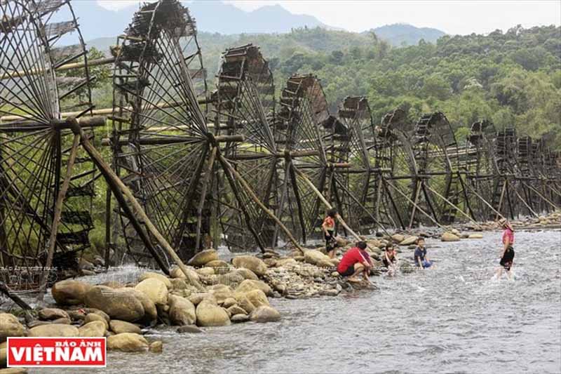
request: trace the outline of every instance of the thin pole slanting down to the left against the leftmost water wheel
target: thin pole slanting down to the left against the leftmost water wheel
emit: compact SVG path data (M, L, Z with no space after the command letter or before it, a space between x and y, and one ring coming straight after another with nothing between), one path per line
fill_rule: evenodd
M55 202L55 214L53 216L53 225L50 227L47 260L45 262L47 276L45 277L45 279L41 280L41 292L44 292L44 290L46 290L48 274L50 272L50 267L53 265L53 255L55 253L55 246L57 243L58 224L60 223L60 215L62 215L62 203L65 201L65 196L70 185L70 179L72 178L72 169L74 168L74 162L76 161L76 154L78 152L79 145L80 135L74 134L72 149L70 149L70 156L66 167L65 180L62 182L62 186L60 187L60 191L58 192L57 201Z

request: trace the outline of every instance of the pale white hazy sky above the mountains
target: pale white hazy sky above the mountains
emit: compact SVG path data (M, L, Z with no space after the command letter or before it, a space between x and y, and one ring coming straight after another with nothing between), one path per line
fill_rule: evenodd
M103 0L106 8L130 4ZM213 0L205 0L213 1ZM391 23L434 27L448 34L492 32L515 25L532 27L561 24L561 0L232 0L245 11L280 4L297 14L313 15L326 25L362 32ZM196 17L196 15L194 15Z

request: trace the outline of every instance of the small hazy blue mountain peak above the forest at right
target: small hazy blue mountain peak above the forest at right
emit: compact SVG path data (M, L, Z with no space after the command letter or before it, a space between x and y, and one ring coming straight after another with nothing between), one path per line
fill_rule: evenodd
M428 43L436 43L446 33L430 27L415 27L405 23L395 23L371 29L380 39L392 46L416 46L421 39Z

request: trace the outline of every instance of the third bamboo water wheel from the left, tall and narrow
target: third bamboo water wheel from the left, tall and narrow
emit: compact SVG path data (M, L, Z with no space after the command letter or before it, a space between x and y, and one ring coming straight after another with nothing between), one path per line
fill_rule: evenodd
M245 138L243 143L226 142L222 152L259 200L276 210L279 155L270 126L275 86L269 63L257 46L229 48L222 56L217 77L217 90L212 95L215 133ZM224 183L224 175L220 175L218 185L219 222L231 251L271 246L275 222L252 201L236 199L231 186ZM236 188L241 190L241 186ZM239 204L243 204L243 209ZM248 222L256 235L248 232Z

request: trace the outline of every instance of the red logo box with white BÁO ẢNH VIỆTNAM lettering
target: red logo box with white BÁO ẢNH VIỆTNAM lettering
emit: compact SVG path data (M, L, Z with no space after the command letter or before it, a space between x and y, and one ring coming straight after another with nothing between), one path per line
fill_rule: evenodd
M106 338L8 338L8 368L104 368Z

